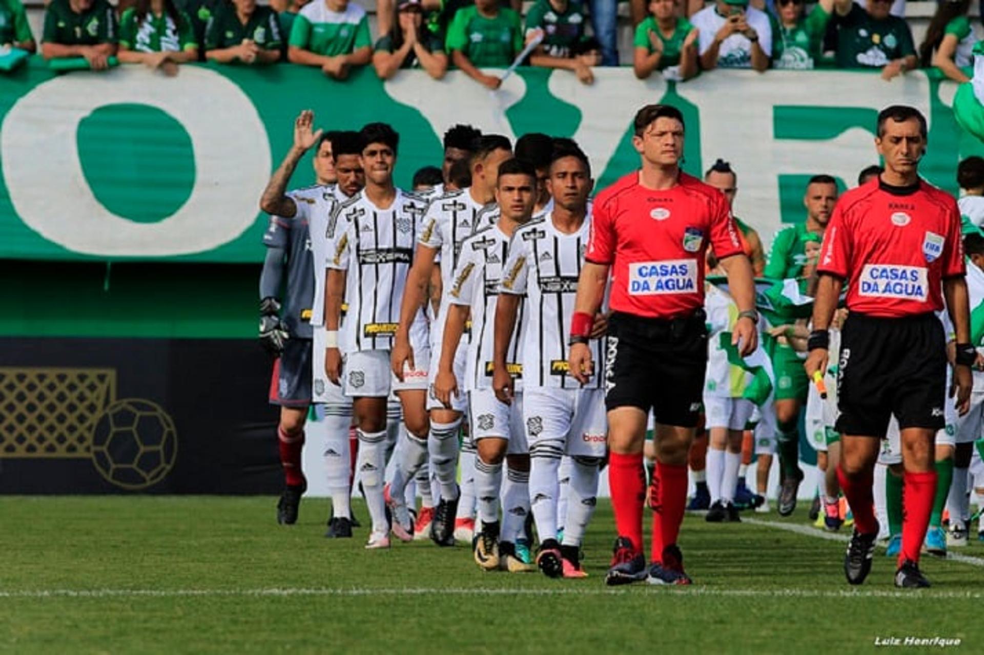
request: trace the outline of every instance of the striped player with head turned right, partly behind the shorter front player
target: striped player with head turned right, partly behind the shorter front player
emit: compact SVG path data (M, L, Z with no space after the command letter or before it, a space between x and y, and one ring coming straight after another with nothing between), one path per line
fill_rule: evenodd
M424 217L424 228L417 240L417 250L403 291L400 306L400 328L393 346L391 366L398 378L417 365L420 354L409 340L406 326L416 315L428 297L434 262L440 253L442 286L450 288L450 278L455 270L461 250L461 242L474 232L475 224L483 208L495 200L495 180L499 164L512 155L509 140L496 135L486 135L475 142L471 158L471 187L448 194L430 204ZM431 326L431 367L429 385L433 385L436 364L441 357L440 335L444 330L447 307L442 306L437 320ZM463 366L463 349L457 360ZM459 369L461 370L461 369ZM405 506L399 505L406 482L427 459L430 449L430 465L441 487L441 501L434 516L431 538L441 546L453 546L454 521L458 511L460 490L455 480L458 464L458 434L461 428L463 399L456 399L448 406L429 398L430 434L423 437L407 431L408 443L401 448L400 462L390 484L390 498L398 501L393 506L397 522L402 520ZM429 448L428 448L429 443Z

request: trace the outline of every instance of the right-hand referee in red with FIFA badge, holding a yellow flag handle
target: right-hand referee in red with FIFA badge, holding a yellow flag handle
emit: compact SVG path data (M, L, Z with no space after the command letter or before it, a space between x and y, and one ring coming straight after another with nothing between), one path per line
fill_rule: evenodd
M928 587L919 571L936 493L934 442L944 427L947 353L936 312L946 307L956 332L956 407L969 406L970 344L960 213L949 194L919 178L926 118L895 105L878 115L875 146L885 159L878 179L837 202L824 238L807 374L827 370L830 318L847 284L850 316L841 333L836 429L842 437L837 478L854 512L844 573L861 584L871 570L879 525L872 478L894 414L904 474L902 550L897 587Z

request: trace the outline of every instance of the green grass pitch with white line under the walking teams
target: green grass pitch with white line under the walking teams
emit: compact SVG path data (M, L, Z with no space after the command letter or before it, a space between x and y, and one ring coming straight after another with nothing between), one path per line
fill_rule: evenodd
M429 542L366 552L366 528L322 537L326 501L306 500L292 527L277 526L275 503L0 499L0 651L853 653L876 637L938 636L973 652L984 638L977 542L962 562L924 558L934 587L901 593L884 551L850 588L839 542L688 516L693 587L609 589L607 503L584 580L485 573L466 548ZM806 524L805 510L753 518Z

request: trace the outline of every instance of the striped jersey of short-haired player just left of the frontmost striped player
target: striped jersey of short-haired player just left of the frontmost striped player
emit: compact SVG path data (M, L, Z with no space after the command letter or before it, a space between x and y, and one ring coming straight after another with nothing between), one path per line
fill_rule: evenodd
M465 390L492 387L492 353L495 340L495 307L499 284L506 271L509 239L498 225L468 237L461 244L455 278L445 287L445 301L471 308L471 340L463 387ZM516 390L523 387L523 331L526 327L525 298L520 301L516 329L507 352ZM443 338L443 333L442 333Z

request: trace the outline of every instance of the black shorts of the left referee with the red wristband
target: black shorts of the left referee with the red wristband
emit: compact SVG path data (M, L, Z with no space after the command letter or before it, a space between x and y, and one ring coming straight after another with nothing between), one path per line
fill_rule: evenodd
M666 321L615 312L608 320L605 406L653 410L656 423L697 426L707 371L707 315Z

